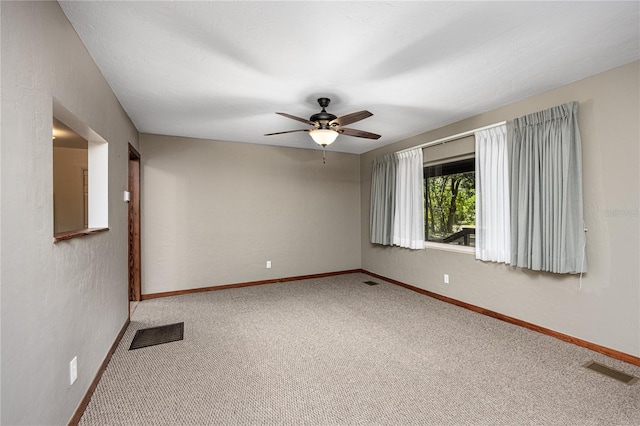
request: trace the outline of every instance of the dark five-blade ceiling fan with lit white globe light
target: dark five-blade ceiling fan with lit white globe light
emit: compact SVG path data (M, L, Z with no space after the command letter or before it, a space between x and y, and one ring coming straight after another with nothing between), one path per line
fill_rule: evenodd
M329 98L319 98L318 104L320 104L322 111L317 114L313 114L311 117L309 117L308 120L305 118L286 114L284 112L276 112L276 114L278 115L282 115L283 117L291 118L292 120L309 124L313 127L310 129L287 130L284 132L267 133L265 136L282 135L284 133L294 132L309 132L314 142L322 146L323 148L325 148L327 145L331 145L336 140L338 135L355 136L357 138L367 139L380 139L380 135L376 135L375 133L342 127L351 123L355 123L356 121L364 120L365 118L371 117L373 115L372 113L370 113L369 111L358 111L351 114L343 115L342 117L336 117L335 115L328 113L325 109L329 106L329 102L331 102Z

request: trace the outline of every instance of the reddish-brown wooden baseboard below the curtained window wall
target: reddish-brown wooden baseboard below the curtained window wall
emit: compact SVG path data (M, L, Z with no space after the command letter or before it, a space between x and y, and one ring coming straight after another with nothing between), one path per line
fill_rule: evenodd
M366 270L362 270L361 272L363 272L363 273L365 273L367 275L371 275L372 277L387 281L387 282L389 282L391 284L395 284L395 285L398 285L400 287L404 287L404 288L407 288L409 290L413 290L413 291L415 291L417 293L424 294L424 295L429 296L429 297L433 297L434 299L438 299L438 300L441 300L443 302L451 303L452 305L460 306L461 308L465 308L465 309L468 309L470 311L474 311L474 312L477 312L477 313L480 313L480 314L483 314L483 315L487 315L487 316L490 316L492 318L499 319L501 321L505 321L505 322L508 322L508 323L511 323L511 324L514 324L514 325L518 325L520 327L528 328L529 330L537 331L538 333L546 334L548 336L555 337L556 339L560 339L562 341L565 341L565 342L568 342L568 343L572 343L574 345L581 346L583 348L590 349L590 350L592 350L594 352L601 353L601 354L606 355L608 357L611 357L611 358L614 358L614 359L617 359L617 360L620 360L620 361L624 361L624 362L627 362L629 364L633 364L633 365L636 365L636 366L640 367L640 357L637 357L637 356L634 356L634 355L630 355L630 354L627 354L627 353L624 353L624 352L620 352L620 351L617 351L615 349L607 348L605 346L601 346L601 345L598 345L596 343L588 342L586 340L582 340L582 339L579 339L577 337L569 336L567 334L559 333L557 331L554 331L554 330L551 330L551 329L548 329L548 328L545 328L545 327L541 327L539 325L532 324L530 322L523 321L523 320L520 320L518 318L513 318L513 317L510 317L508 315L501 314L499 312L495 312L495 311L491 311L489 309L481 308L479 306L475 306L475 305L472 305L470 303L461 302L460 300L452 299L452 298L447 297L447 296L442 296L440 294L433 293L431 291L424 290L424 289L421 289L419 287L412 286L411 284L406 284L406 283L403 283L401 281L394 280L392 278L387 278L385 276L378 275L378 274L375 274L373 272L369 272L369 271L366 271Z

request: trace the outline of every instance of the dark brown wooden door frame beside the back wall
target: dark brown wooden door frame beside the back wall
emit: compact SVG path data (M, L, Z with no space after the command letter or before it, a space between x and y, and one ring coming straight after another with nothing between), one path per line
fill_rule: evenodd
M128 191L131 199L129 201L128 213L128 265L129 283L128 295L130 302L139 302L142 297L141 283L141 257L140 257L140 153L129 144L129 172ZM131 315L131 311L129 311Z

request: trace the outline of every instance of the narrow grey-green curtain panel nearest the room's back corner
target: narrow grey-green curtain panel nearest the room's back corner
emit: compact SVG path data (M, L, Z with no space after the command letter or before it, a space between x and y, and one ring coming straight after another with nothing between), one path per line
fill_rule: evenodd
M387 154L373 160L369 223L371 242L375 244L393 244L396 163L395 154Z

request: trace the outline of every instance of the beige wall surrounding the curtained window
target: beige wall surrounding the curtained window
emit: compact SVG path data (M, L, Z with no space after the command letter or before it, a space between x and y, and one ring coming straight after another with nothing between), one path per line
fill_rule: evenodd
M635 62L361 157L362 267L416 287L640 356L640 73ZM589 272L554 275L369 242L371 162L387 152L579 102ZM451 283L443 284L443 274Z

